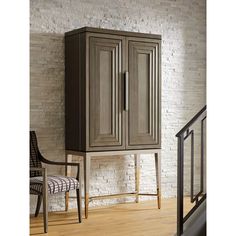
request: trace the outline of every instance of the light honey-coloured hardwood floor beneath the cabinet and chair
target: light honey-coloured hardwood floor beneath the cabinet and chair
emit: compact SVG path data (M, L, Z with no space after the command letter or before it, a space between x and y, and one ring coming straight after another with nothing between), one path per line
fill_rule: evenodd
M76 210L49 213L50 236L173 236L176 233L176 199L126 203L106 208L90 208L89 218L77 224ZM30 235L43 233L43 218L30 217Z

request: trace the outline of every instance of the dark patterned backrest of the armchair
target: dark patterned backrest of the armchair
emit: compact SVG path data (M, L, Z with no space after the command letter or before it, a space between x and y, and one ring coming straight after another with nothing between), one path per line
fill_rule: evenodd
M42 167L40 161L40 152L38 148L38 142L35 131L30 131L30 168L31 167ZM41 176L41 171L31 171L30 177Z

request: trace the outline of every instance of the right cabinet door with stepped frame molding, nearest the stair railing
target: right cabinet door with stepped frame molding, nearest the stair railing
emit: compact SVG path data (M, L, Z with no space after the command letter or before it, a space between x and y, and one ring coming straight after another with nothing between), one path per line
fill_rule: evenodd
M160 42L128 40L127 148L159 148L160 143Z

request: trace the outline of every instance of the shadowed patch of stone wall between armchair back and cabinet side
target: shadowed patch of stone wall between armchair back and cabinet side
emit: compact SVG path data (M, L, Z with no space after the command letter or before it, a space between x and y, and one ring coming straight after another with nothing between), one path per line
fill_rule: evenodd
M63 34L30 34L30 129L45 157L64 160Z

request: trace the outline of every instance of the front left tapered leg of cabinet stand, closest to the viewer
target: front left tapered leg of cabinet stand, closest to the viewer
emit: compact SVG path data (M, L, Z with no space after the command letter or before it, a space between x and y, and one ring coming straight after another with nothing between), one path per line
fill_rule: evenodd
M85 203L85 219L88 218L89 207L89 178L90 178L90 162L91 156L84 155L84 203Z

